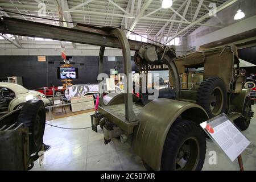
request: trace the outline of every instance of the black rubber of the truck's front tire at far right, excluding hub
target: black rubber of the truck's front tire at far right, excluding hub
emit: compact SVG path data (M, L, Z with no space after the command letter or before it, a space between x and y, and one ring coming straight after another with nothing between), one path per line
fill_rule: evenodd
M247 97L245 99L245 104L243 105L243 113L242 113L243 116L244 116L244 114L246 114L245 113L246 107L249 107L250 112L251 112L251 101ZM251 121L251 113L249 113L249 118L247 118L247 119L245 119L243 116L234 120L234 123L237 125L237 127L241 131L245 131L250 126L250 121Z

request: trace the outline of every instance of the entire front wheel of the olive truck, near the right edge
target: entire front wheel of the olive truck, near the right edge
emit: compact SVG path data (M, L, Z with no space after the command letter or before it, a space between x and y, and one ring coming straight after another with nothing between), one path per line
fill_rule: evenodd
M251 111L251 101L248 97L246 97L245 104L243 105L242 116L235 119L234 123L240 130L244 131L249 127L251 117L253 117L253 112Z

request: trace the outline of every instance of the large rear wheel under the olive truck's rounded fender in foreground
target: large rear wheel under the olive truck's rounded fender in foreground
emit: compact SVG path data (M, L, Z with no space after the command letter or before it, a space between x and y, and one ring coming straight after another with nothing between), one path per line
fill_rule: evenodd
M164 142L161 170L201 170L205 153L203 129L195 122L179 119L171 126Z

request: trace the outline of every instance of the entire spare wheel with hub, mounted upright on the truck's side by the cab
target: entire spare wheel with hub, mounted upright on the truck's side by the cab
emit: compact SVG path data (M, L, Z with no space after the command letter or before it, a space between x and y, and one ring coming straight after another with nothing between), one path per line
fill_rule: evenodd
M201 82L196 102L207 111L209 118L213 118L225 112L227 96L224 81L218 77L209 77Z

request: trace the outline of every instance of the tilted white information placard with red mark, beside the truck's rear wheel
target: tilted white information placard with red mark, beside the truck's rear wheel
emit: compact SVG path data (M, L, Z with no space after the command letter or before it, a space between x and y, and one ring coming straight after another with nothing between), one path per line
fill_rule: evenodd
M236 126L222 115L211 121L200 124L217 145L234 162L237 157L249 146L250 141L237 129Z

